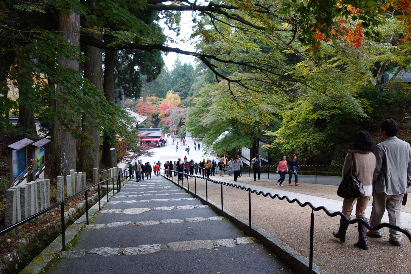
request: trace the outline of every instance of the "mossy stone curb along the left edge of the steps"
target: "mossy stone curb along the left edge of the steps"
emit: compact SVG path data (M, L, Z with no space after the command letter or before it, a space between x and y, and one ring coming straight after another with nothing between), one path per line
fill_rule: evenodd
M113 193L108 194L109 198L113 196ZM88 203L94 203L92 207L88 210L89 214L89 219L91 216L93 216L98 210L99 210L99 203L98 203L98 193L94 194L91 198L89 198ZM103 198L100 199L101 205L104 205L104 203L107 202L107 195L104 196ZM85 202L79 204L79 206L76 207L76 210L73 211L81 211L81 209L85 207ZM71 212L72 214L74 212ZM65 212L65 220L68 221L71 216L69 212ZM74 214L72 216L75 216ZM73 241L73 239L79 235L80 231L82 228L85 226L86 223L86 213L84 213L79 219L75 220L74 223L69 226L65 230L65 240L66 240L66 246L70 244L70 242ZM61 226L61 223L60 223ZM26 266L19 274L42 274L43 270L46 269L47 267L51 266L51 263L53 260L55 260L59 254L62 252L62 235L60 234L51 244L47 246L46 249L42 251L39 255L34 258L28 266Z

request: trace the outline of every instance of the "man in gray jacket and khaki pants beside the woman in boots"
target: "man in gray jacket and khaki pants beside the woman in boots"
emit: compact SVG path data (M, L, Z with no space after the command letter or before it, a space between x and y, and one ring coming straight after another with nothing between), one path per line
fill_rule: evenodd
M380 125L381 136L385 139L376 145L374 154L376 168L372 180L372 211L370 226L381 223L385 210L390 223L401 226L401 207L404 193L411 186L411 147L396 135L398 125L393 119L386 119ZM381 238L381 230L367 231L370 237ZM401 233L390 228L388 242L401 245Z

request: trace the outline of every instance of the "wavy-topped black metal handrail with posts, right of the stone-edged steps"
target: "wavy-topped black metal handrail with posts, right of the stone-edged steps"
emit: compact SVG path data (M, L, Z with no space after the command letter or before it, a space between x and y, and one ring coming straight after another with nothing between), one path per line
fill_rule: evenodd
M163 168L161 168L161 170L165 170ZM300 200L298 199L292 199L290 200L290 198L288 198L288 196L279 196L279 194L274 194L272 195L270 192L264 193L263 191L257 191L256 189L251 189L249 187L242 187L241 185L238 184L233 184L233 183L228 183L228 182L222 182L222 181L217 181L217 180L212 180L210 178L207 177L202 177L202 176L196 176L196 175L189 175L188 173L183 173L183 172L179 172L179 171L174 171L174 183L175 183L175 175L176 174L182 174L182 175L187 175L187 189L189 191L189 187L188 187L188 177L190 178L194 178L195 180L195 196L197 197L197 178L198 179L202 179L205 180L205 200L206 200L206 204L208 204L208 181L215 183L215 184L220 184L221 185L221 216L223 216L223 209L224 209L224 204L223 204L223 185L227 186L227 187L235 187L237 189L241 189L241 190L245 190L248 191L248 210L249 210L249 236L252 236L252 224L251 224L251 193L256 193L257 195L263 195L264 197L270 196L270 198L275 199L278 198L279 200L284 200L286 199L289 203L298 203L298 205L300 205L300 207L305 207L305 206L309 206L311 207L311 223L310 223L310 249L309 249L309 274L313 273L313 269L312 269L312 264L313 264L313 252L314 252L314 211L320 211L323 210L328 216L330 217L335 217L337 215L341 216L341 218L350 224L353 223L363 223L364 226L366 228L368 228L369 230L379 230L381 228L393 228L401 233L404 233L408 239L411 241L411 233L409 230L406 230L405 228L401 228L399 226L395 226L393 224L390 223L380 223L376 226L370 226L366 221L364 221L363 219L359 219L359 218L355 218L352 220L349 220L342 212L336 211L334 213L330 213L328 211L328 209L324 206L319 206L319 207L314 207L314 205L312 205L312 203L310 202L305 202L305 203L301 203ZM163 175L163 174L162 174ZM163 175L164 176L164 175ZM177 184L179 184L179 181L177 181ZM182 187L184 187L184 185L182 184Z

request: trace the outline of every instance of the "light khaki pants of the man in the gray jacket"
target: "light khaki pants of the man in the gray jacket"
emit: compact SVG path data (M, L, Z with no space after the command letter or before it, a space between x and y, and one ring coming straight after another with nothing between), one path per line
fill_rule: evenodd
M381 223L385 210L388 211L390 224L401 226L401 208L404 194L387 195L386 193L372 193L372 210L369 225L376 226ZM381 229L373 230L373 234L380 235ZM401 232L390 228L390 237L394 241L401 241Z

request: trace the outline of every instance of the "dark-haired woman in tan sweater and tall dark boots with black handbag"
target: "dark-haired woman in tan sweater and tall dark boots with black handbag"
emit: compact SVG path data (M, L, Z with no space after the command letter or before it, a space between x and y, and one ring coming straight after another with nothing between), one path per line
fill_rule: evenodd
M369 199L372 194L372 176L374 173L376 161L372 151L375 148L374 140L368 131L358 131L354 136L354 148L356 150L349 150L344 161L344 167L342 168L342 180L347 176L357 175L360 184L362 183L364 188L363 196L359 198L344 198L342 204L342 213L351 220L351 212L353 206L357 202L356 217L367 221L365 217L365 209L367 208ZM345 180L347 182L347 180ZM340 194L340 193L339 193ZM347 194L347 193L346 193ZM361 193L358 195L360 196ZM350 196L350 195L345 195ZM367 245L367 228L363 223L358 222L358 242L354 246L361 249L368 249ZM338 238L341 242L345 242L345 234L349 223L346 223L341 218L339 222L339 230L334 231L332 235Z

